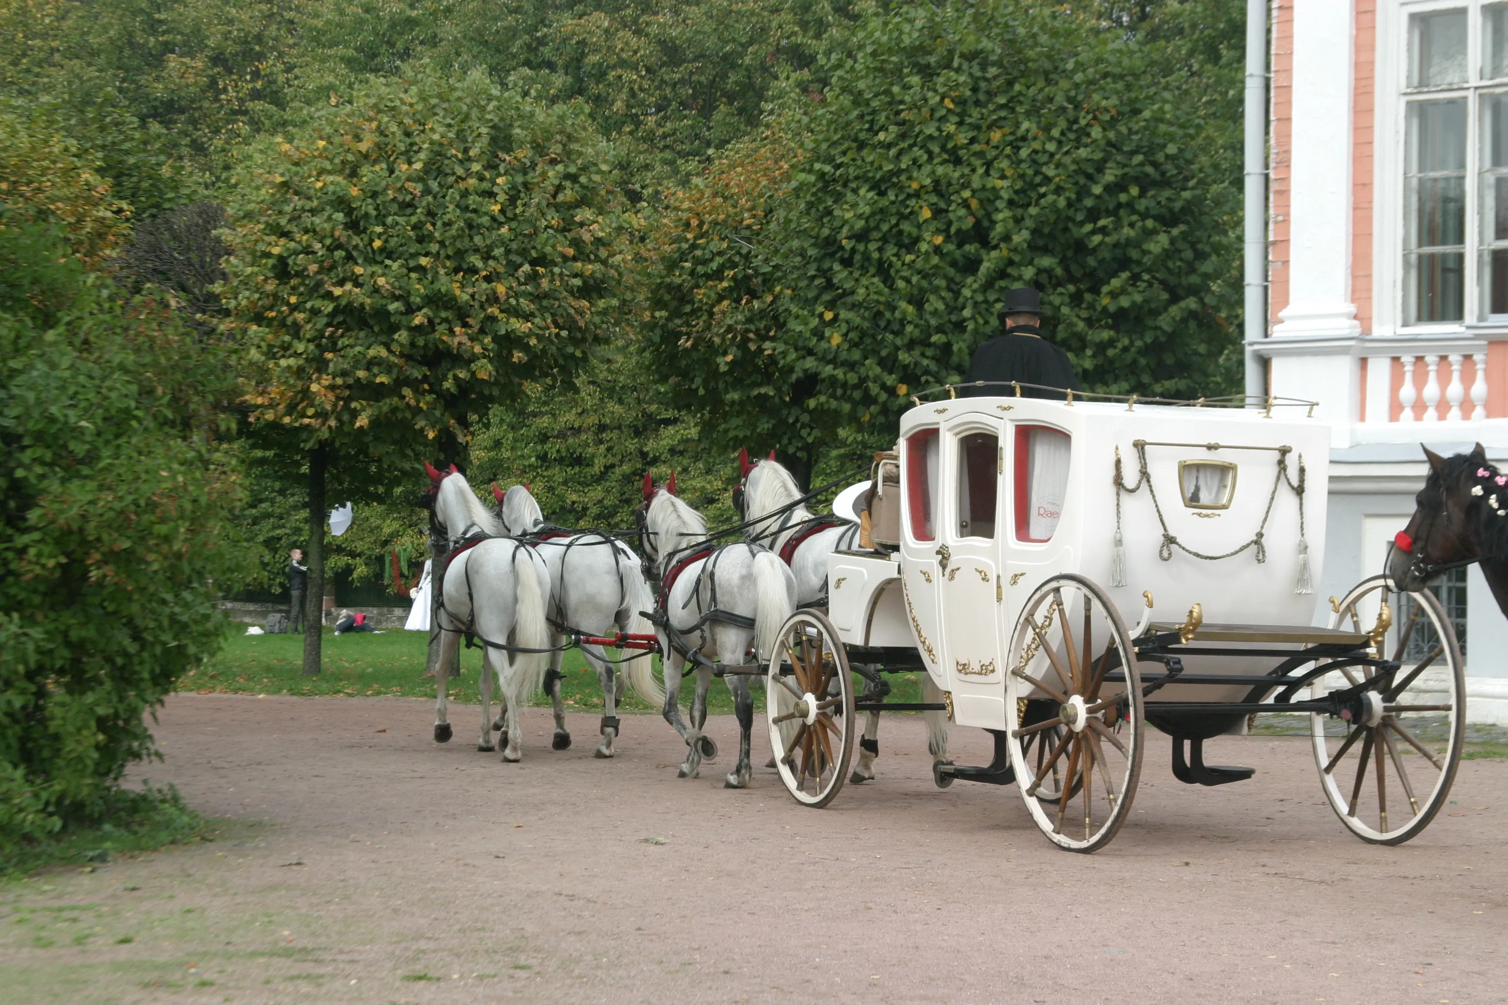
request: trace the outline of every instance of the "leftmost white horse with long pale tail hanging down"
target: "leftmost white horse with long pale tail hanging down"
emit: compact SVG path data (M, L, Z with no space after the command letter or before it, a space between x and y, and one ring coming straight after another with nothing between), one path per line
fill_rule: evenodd
M434 520L455 542L439 580L440 661L434 672L439 689L434 702L434 740L446 743L451 738L445 683L461 634L470 631L484 643L481 738L477 749L495 749L492 678L496 675L502 701L502 759L519 761L523 756L523 723L519 716L549 666L544 649L550 645L550 634L544 606L550 594L550 574L534 548L504 536L502 524L481 505L454 464L448 472L439 472L430 464L424 467L430 473ZM477 542L467 544L472 539Z

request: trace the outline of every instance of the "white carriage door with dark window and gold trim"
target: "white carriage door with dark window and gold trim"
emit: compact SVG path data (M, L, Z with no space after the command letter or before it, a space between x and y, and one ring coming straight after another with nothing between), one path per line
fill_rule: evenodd
M944 478L949 493L938 598L955 720L1000 728L1004 689L1000 660L1000 425L976 420L949 429Z

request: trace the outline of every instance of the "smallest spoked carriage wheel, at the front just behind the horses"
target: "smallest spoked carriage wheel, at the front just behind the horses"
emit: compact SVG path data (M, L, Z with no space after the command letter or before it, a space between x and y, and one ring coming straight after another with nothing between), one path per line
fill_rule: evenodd
M826 806L854 759L854 677L832 624L798 610L780 628L765 678L775 768L798 803Z

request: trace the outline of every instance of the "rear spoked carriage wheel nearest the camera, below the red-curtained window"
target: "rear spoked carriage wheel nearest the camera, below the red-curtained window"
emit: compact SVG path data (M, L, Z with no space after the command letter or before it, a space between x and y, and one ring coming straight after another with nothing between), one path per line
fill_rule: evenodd
M1071 851L1105 847L1142 774L1142 678L1114 604L1081 576L1027 600L1006 654L1010 764L1027 811Z

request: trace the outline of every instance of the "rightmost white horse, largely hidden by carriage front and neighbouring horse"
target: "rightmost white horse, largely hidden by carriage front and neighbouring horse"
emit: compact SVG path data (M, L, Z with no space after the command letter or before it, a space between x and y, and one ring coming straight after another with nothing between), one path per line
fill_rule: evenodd
M734 502L745 520L743 533L749 541L769 547L784 556L786 545L813 523L813 512L802 497L801 487L790 472L775 460L774 451L763 461L749 463L748 451L739 452L742 481ZM828 556L840 548L852 548L858 541L858 524L843 521L811 533L790 553L790 570L796 577L796 603L801 607L828 606ZM866 692L873 689L873 683ZM921 701L942 702L942 690L932 683L929 674L921 675ZM947 752L947 717L941 711L921 713L927 723L927 752L933 765L952 764ZM851 782L867 782L875 777L875 758L879 756L879 713L872 711L864 720L864 737L860 740L858 764ZM771 764L774 767L774 764Z

